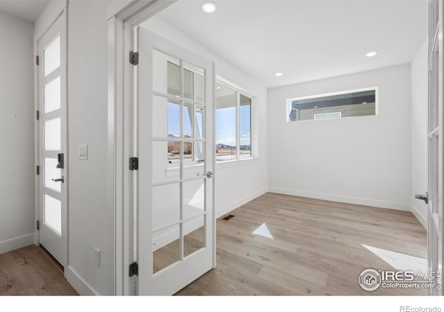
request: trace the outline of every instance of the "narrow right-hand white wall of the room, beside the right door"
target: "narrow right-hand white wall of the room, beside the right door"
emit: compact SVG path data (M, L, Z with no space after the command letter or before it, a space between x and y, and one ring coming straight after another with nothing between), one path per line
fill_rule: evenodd
M410 65L411 71L411 194L427 191L427 80L428 45L422 44ZM427 228L427 205L411 198L411 212Z

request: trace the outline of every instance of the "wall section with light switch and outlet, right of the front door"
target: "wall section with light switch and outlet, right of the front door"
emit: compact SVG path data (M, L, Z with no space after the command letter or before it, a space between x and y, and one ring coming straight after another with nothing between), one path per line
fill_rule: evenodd
M80 293L114 293L114 211L107 205L108 1L69 1L68 281ZM78 145L88 144L88 159ZM94 248L101 250L100 268ZM82 280L83 279L83 280ZM89 289L81 288L82 283ZM79 286L80 285L80 286Z

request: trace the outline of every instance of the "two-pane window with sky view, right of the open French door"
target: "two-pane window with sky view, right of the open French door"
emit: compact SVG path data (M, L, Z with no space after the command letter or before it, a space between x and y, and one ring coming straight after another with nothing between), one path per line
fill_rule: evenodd
M251 98L216 83L216 161L251 157Z

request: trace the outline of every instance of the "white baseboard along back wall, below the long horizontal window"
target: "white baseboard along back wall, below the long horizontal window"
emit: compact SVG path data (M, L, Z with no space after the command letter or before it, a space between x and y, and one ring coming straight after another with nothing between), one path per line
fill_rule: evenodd
M334 194L316 193L311 191L301 191L298 189L281 189L279 187L270 187L270 192L280 193L292 196L316 198L320 200L330 200L332 202L346 202L348 204L364 205L371 207L379 207L386 209L396 209L402 211L411 211L410 204L404 204L402 202L390 202L386 200L372 200L368 198L357 198L351 196L341 196Z

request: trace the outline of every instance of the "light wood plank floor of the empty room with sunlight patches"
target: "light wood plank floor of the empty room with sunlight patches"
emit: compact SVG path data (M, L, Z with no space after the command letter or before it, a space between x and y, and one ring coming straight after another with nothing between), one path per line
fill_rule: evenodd
M217 220L216 269L177 295L427 295L358 284L366 268L425 263L426 231L408 211L266 193L230 214ZM273 239L253 234L263 223Z

